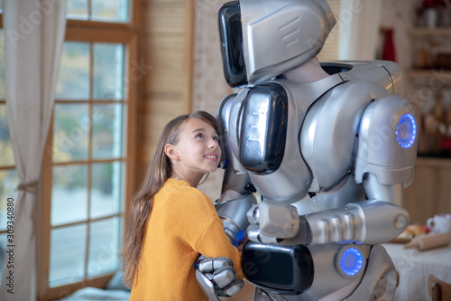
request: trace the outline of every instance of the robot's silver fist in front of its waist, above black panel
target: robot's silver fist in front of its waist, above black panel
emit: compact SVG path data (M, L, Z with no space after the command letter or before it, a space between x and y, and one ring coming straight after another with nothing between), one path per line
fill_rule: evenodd
M296 208L286 202L266 200L254 205L247 218L249 240L278 245L308 244L311 231L308 222Z

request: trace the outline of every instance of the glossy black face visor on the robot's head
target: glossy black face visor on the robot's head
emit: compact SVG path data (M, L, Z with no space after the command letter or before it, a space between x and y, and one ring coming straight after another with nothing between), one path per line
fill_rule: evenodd
M218 27L224 77L230 87L244 87L247 79L240 5L237 1L221 6L218 13Z

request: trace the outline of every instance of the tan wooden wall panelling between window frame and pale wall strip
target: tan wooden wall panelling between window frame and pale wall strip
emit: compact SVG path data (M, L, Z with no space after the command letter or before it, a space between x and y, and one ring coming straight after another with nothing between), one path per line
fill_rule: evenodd
M191 110L193 10L190 0L141 0L143 76L138 105L137 183L143 181L161 130Z

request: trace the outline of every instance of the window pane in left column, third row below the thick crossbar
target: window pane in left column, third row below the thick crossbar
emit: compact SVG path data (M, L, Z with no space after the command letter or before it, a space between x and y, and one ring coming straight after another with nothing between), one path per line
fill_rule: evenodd
M87 220L87 165L53 167L51 225Z

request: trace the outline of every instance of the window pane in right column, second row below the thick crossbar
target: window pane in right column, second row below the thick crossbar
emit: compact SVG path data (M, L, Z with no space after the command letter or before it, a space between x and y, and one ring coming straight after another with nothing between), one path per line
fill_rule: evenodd
M93 106L92 157L119 158L123 155L124 106Z

